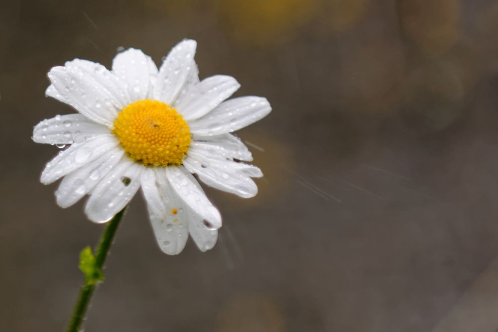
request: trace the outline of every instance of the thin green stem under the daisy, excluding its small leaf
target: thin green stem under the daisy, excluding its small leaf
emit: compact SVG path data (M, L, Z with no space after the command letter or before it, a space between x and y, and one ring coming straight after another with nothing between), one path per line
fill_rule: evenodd
M102 266L106 261L111 245L113 244L116 230L118 230L118 226L120 225L120 221L123 218L125 210L126 207L124 207L123 210L118 212L118 214L114 216L111 221L109 221L104 233L102 234L99 245L97 246L97 252L95 254L95 265L99 270L102 270ZM85 319L85 314L96 286L96 283L89 282L87 278L85 278L85 282L81 287L80 295L78 296L73 315L71 316L71 322L66 330L67 332L81 331L81 326L83 324L83 320Z

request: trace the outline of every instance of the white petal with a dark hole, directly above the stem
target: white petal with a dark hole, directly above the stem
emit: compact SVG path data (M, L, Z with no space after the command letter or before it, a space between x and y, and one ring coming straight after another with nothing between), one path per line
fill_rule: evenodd
M106 222L120 212L140 188L140 175L145 168L128 158L95 187L85 207L91 221Z

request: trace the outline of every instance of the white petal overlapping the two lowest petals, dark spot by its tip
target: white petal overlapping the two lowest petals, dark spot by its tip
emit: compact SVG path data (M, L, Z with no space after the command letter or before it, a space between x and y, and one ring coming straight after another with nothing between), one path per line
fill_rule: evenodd
M197 186L197 180L183 167L166 167L166 176L173 190L195 213L209 221L214 228L221 227L220 212L209 202Z

